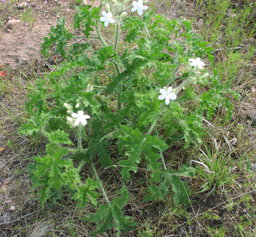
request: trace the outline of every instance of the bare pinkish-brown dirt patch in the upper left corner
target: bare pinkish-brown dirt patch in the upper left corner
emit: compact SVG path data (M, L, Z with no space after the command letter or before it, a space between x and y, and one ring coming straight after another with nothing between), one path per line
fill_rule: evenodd
M8 15L8 21L0 29L0 62L5 68L19 69L42 60L40 51L43 37L60 17L66 17L67 25L72 25L74 5L71 0L34 0L24 1L26 6ZM3 2L2 4L5 4ZM20 19L28 10L34 17L33 26ZM1 15L6 12L1 12ZM12 20L20 22L12 23ZM11 21L11 23L9 23ZM69 28L70 26L68 26Z

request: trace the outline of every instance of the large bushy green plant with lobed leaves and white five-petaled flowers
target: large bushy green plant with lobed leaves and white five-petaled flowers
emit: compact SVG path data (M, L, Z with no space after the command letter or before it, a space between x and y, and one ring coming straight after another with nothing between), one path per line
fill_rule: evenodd
M170 169L166 150L180 141L185 147L200 144L202 123L221 101L230 115L227 87L202 61L212 62L213 49L191 23L157 15L147 1L130 3L77 6L74 28L81 36L68 32L64 18L51 27L42 53L49 56L55 45L64 61L37 81L26 102L29 118L20 128L22 134L47 138L46 155L34 157L29 167L42 206L60 200L64 191L81 208L92 203L97 212L85 218L97 224L92 235L115 228L119 236L136 227L122 209L138 169L148 174L141 184L144 202L173 194L175 205L189 204L191 192L181 178L195 170ZM75 37L83 41L74 42ZM86 178L80 174L85 166ZM99 178L103 169L119 174L122 188L115 198L107 196Z

